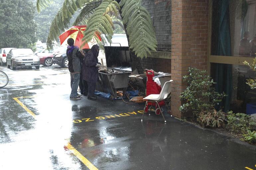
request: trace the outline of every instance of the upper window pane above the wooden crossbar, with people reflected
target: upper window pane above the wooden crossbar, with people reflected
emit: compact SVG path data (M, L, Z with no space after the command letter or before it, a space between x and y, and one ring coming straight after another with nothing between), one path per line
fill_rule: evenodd
M255 57L256 0L212 3L211 55Z

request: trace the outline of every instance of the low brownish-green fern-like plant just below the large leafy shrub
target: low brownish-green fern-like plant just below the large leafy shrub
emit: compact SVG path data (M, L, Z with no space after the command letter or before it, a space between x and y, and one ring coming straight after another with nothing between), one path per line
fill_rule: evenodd
M216 111L215 109L210 111L202 111L198 115L197 121L201 123L203 127L221 127L224 125L225 113Z

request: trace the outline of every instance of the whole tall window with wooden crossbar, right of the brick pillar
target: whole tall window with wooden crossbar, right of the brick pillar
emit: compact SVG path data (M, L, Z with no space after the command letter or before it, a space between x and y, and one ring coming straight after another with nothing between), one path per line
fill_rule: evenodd
M216 91L228 95L219 106L246 113L256 102L256 90L246 84L256 73L243 64L256 57L256 0L211 0L210 5L209 71Z

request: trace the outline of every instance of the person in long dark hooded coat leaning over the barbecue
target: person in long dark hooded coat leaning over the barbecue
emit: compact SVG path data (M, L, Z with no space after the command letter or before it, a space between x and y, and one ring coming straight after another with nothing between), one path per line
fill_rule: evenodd
M82 68L83 80L87 82L88 85L88 99L95 100L96 96L94 91L96 88L96 83L98 81L98 70L100 64L98 64L99 46L93 45L91 50L85 55L85 60Z

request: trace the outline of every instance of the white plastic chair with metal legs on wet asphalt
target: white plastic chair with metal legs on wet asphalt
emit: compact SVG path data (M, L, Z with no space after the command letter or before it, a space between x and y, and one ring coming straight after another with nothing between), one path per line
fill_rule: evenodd
M161 110L161 108L160 108L158 102L160 102L160 101L165 101L165 99L166 99L167 96L168 96L168 91L169 91L169 88L170 88L170 85L171 85L171 82L172 82L172 81L173 81L173 80L170 80L170 81L165 82L164 87L162 88L160 94L151 94L151 95L149 95L149 96L143 98L143 100L147 100L147 101L146 101L146 104L145 104L145 107L144 107L144 112L143 112L143 115L142 115L142 118L141 118L141 122L143 121L143 116L144 116L144 113L145 113L146 106L148 105L148 102L153 102L153 103L156 103L156 104L157 104L157 107L160 109L160 112L161 112L161 114L162 114L162 116L163 116L163 118L164 118L164 121L165 121L165 123L166 123L165 117L164 117L164 115L163 115L163 112L162 112L162 110ZM166 107L167 107L167 109L168 109L168 105L167 105L166 101L165 101L165 105L166 105ZM169 109L168 109L168 110L169 110ZM149 114L149 115L150 115L150 114Z

